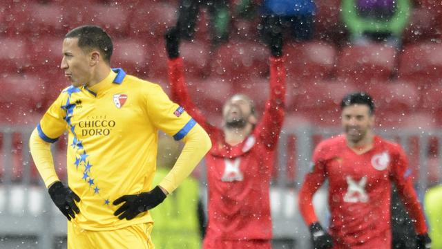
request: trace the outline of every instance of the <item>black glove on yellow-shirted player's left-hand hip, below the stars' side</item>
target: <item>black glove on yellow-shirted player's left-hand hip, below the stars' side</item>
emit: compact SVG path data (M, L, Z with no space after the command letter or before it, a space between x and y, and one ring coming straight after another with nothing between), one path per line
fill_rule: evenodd
M48 189L50 199L55 203L57 208L68 218L75 218L75 213L80 210L75 201L79 202L80 198L69 187L65 186L61 181L52 183Z

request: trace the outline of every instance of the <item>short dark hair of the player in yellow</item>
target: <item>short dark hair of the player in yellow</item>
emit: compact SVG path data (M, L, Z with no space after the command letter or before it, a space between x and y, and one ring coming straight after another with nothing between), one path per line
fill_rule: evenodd
M113 44L111 37L99 26L85 25L70 30L64 38L78 38L78 46L83 50L96 48L102 54L104 61L111 64Z

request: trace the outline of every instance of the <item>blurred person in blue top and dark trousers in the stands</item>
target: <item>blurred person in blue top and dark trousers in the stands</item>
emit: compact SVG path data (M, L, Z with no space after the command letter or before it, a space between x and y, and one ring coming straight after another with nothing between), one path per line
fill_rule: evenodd
M267 28L279 28L287 30L287 38L296 42L313 38L314 0L263 0L261 12L262 34L267 32Z

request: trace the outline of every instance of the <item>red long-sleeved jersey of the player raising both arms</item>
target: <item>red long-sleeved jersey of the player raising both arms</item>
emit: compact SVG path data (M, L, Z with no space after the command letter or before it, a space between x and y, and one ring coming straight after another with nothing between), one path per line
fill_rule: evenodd
M251 134L228 145L222 129L212 126L195 108L184 83L182 59L169 60L172 98L209 133L212 148L206 155L209 184L210 240L271 239L269 183L273 154L284 118L285 68L270 58L270 98ZM222 86L220 86L222 87Z

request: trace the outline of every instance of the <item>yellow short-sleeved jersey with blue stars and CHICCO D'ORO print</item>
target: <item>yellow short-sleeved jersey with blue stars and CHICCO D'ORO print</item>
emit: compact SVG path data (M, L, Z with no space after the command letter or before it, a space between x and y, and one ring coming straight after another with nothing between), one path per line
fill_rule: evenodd
M151 190L158 129L181 140L195 124L159 85L117 68L94 86L64 89L37 131L46 142L68 131L68 185L81 199L73 222L86 230L114 230L152 222L149 212L119 220L113 215L119 206L112 203Z

